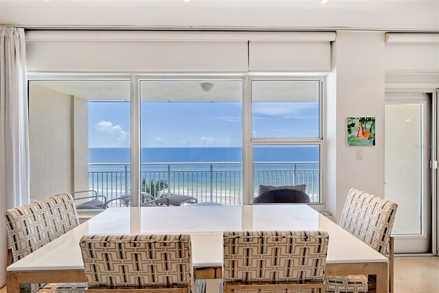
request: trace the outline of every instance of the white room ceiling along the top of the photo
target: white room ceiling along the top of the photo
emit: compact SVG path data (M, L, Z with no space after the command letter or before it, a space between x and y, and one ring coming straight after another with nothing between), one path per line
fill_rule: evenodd
M438 31L438 0L1 0L28 29L371 29Z

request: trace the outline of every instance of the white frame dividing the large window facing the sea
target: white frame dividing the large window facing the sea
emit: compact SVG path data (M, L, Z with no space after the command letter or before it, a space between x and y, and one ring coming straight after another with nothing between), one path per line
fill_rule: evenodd
M242 81L242 205L252 205L253 199L253 146L256 145L319 145L320 146L320 201L318 203L311 203L313 207L318 210L324 209L324 203L326 198L324 196L324 170L326 162L326 146L324 141L324 121L326 121L326 105L325 105L325 86L327 75L316 74L276 74L270 73L257 74L257 73L230 73L230 74L107 74L107 73L38 73L28 72L27 82L38 80L129 80L130 81L130 133L131 133L131 182L130 190L132 194L131 204L133 207L139 206L139 196L134 194L140 194L141 190L141 166L140 166L140 110L141 110L141 97L140 86L141 81L147 80L159 80L159 79L176 79L176 80L192 80L192 79L213 79L213 80L228 80L235 79ZM320 135L319 138L253 138L252 137L252 81L268 81L268 80L304 80L304 81L319 81L319 107L320 107ZM137 135L133 135L136 133ZM85 211L91 212L91 211Z

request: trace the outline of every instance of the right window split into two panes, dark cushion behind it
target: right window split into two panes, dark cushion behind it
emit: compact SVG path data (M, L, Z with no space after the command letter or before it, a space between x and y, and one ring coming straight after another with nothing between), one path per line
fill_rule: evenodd
M320 82L252 81L254 200L264 186L300 186L311 203L320 203ZM270 202L285 202L280 198Z

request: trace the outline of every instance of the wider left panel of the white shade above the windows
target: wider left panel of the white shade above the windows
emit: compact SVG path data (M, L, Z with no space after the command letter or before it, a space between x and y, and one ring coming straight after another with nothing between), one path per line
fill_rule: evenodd
M243 41L30 41L28 71L247 72Z

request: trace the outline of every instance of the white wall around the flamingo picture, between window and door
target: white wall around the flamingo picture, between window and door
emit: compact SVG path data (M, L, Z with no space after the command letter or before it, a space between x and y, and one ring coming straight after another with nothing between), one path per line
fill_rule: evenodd
M384 84L383 32L337 31L335 50L336 194L329 210L337 222L350 188L384 196ZM347 117L375 117L376 145L346 145ZM357 160L357 149L364 153Z

